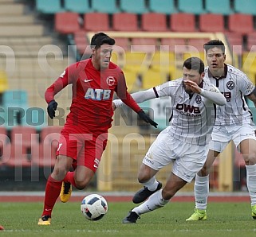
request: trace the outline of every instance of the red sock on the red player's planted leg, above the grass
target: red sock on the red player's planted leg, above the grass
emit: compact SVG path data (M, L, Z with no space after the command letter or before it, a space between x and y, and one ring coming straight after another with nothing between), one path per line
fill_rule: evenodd
M41 216L51 216L53 206L61 192L61 185L62 181L56 181L51 177L51 175L49 176L45 187L44 211Z

